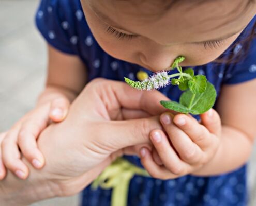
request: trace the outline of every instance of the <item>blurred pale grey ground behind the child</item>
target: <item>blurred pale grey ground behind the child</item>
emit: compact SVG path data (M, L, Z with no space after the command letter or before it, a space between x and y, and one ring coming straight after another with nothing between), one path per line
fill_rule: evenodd
M35 0L0 0L0 132L33 108L43 88L47 58L46 45L33 22L37 4ZM255 160L256 147L248 173L251 206L256 205ZM76 206L78 199L55 198L33 206Z

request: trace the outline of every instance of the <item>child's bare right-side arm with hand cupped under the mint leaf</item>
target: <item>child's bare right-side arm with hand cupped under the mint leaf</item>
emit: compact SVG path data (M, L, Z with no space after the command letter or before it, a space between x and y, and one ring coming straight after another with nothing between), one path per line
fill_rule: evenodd
M201 115L202 125L184 114L176 115L168 125L162 122L168 135L158 130L161 138L150 136L161 161L154 161L143 148L143 166L155 178L171 179L187 174L218 175L245 164L256 135L255 91L256 80L224 85L217 105L222 124L214 110L210 118L208 112ZM178 125L182 116L187 123Z

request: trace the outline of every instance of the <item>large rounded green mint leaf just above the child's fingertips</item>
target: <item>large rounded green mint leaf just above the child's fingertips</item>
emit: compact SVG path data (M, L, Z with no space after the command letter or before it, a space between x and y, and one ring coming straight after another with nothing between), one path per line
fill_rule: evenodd
M193 95L194 94L190 90L184 92L182 96L180 96L180 104L182 104L185 108L188 108ZM208 111L214 106L216 96L217 94L214 85L210 82L207 82L205 92L201 94L195 94L191 107L188 109L188 111L191 114L202 114Z

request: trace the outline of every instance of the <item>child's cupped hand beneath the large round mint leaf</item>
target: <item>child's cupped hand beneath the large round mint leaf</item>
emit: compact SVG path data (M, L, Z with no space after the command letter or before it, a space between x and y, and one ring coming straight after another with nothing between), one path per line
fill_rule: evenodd
M190 115L173 116L164 113L160 117L169 138L163 131L154 130L150 133L153 154L147 148L140 150L141 162L154 178L191 174L208 163L220 145L221 121L215 110L200 115L202 124Z

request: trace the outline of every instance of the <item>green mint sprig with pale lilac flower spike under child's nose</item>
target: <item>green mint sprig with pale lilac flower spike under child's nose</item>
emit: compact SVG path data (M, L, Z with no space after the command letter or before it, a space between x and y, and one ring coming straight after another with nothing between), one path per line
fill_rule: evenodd
M125 78L126 83L131 87L139 90L160 89L169 85L178 85L179 89L185 91L179 99L175 101L160 101L161 105L167 109L176 112L202 114L214 106L217 93L214 85L207 81L204 75L194 75L192 68L188 68L183 72L179 63L184 61L184 57L178 57L171 65L171 70L177 68L178 73L168 75L167 72L159 72L153 74L148 79L140 81L132 81ZM178 77L178 78L174 78Z

